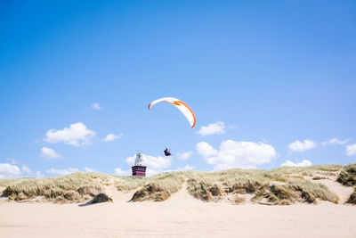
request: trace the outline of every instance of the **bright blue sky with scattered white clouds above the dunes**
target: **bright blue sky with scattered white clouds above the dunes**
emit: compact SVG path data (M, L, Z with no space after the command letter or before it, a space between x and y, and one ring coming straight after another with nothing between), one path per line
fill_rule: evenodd
M0 5L1 177L355 162L354 1L75 2Z

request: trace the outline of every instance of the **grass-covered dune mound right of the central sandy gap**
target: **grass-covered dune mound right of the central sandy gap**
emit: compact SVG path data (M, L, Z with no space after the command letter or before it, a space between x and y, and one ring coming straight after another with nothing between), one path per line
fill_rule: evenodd
M287 183L281 182L287 179ZM272 204L282 205L296 201L316 203L317 199L334 203L338 201L337 195L325 185L303 180L300 176L287 178L281 171L273 170L231 169L199 173L188 180L188 191L202 201L219 201L229 193L236 193L238 197L239 194L251 193L254 195L253 201L265 199Z

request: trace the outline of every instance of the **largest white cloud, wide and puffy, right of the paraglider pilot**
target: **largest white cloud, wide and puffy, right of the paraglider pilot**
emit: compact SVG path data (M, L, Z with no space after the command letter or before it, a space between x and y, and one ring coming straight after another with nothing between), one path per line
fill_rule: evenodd
M277 156L270 144L261 142L223 141L219 150L206 142L197 144L197 151L203 155L214 170L227 168L255 168L257 165L271 162Z

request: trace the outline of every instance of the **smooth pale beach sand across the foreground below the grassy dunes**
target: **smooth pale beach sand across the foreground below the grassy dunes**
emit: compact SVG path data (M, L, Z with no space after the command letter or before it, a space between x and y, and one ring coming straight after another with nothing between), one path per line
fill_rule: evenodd
M133 193L107 193L114 203L0 202L0 237L356 237L351 205L206 203L185 189L163 202L128 202Z

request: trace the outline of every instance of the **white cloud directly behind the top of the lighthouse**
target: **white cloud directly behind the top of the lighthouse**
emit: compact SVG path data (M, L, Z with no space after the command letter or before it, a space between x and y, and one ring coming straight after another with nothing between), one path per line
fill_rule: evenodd
M130 166L134 166L135 159L136 159L136 155L134 155L132 157L127 157L125 159L125 162L127 164L129 164ZM166 168L169 168L171 166L171 159L164 158L161 156L154 157L154 156L142 154L142 160L143 160L143 165L147 166L147 169L146 169L147 176L152 176L152 175L158 174L160 172L163 172L166 170ZM129 170L129 171L131 171L131 170Z

